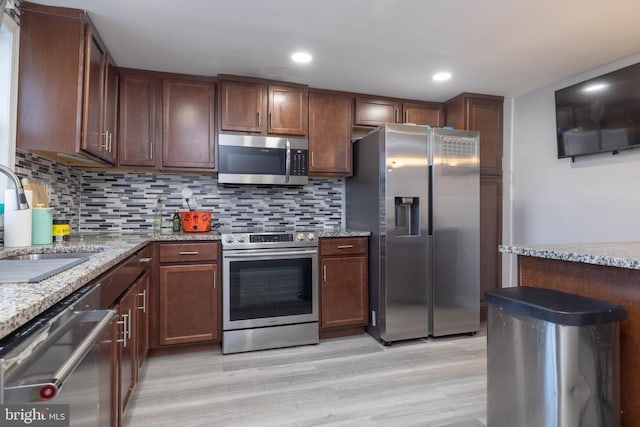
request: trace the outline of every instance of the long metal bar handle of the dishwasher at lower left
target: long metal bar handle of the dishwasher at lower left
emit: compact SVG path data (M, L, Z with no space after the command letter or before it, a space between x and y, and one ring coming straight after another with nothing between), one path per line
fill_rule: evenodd
M35 389L33 390L35 393L29 393L32 401L50 400L56 397L60 390L62 390L65 381L69 378L73 371L75 371L78 365L84 360L87 353L89 353L89 351L91 350L91 347L93 347L96 341L100 338L100 335L106 328L109 327L111 321L116 316L116 312L114 310L97 310L94 313L101 313L101 315L103 316L102 319L91 329L91 331L82 340L82 342L78 344L78 346L64 361L62 366L60 366L58 370L53 374L52 378L49 381L39 384L24 384L14 387L5 387L5 392L20 390L22 392L25 392L28 391L25 389ZM39 396L40 399L37 399L37 396Z

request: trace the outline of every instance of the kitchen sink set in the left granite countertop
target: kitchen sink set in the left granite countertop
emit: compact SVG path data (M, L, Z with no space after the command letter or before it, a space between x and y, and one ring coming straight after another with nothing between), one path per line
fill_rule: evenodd
M0 283L37 283L89 259L96 252L11 255L0 259Z

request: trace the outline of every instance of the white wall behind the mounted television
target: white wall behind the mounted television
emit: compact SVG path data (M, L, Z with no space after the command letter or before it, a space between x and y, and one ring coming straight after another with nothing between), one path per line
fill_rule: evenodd
M504 147L503 244L640 240L640 149L558 159L554 101L557 89L637 62L640 54L513 100ZM506 285L515 276L508 271L512 260L503 262Z

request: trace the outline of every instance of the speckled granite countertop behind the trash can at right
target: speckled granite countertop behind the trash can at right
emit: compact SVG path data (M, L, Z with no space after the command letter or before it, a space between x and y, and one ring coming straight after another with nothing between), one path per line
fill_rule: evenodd
M640 270L640 242L554 243L500 246L504 254Z

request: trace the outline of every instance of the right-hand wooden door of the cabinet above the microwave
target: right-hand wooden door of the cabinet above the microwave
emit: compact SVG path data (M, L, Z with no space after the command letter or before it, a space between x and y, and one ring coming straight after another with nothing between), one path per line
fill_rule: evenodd
M269 85L269 133L306 136L308 117L306 87Z

